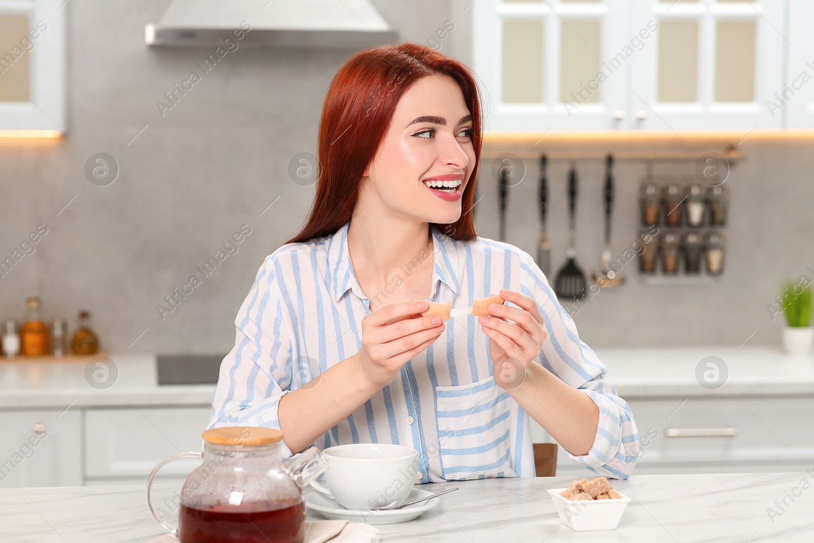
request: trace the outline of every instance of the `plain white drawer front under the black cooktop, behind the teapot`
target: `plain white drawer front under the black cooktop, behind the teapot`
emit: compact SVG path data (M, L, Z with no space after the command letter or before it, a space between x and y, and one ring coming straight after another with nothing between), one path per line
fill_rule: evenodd
M206 407L87 409L85 475L89 480L138 478L142 482L163 458L201 450L201 432L212 409ZM171 462L161 478L186 478L195 458Z

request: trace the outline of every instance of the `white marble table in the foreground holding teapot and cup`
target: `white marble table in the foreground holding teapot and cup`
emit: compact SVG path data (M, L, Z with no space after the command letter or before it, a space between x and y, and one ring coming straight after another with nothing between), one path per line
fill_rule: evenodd
M559 522L547 488L566 477L488 479L425 484L457 492L409 523L379 526L383 541L814 541L814 487L795 490L784 511L769 518L812 473L632 475L611 481L633 501L615 531L573 532ZM162 485L161 491L173 488ZM144 543L160 528L145 505L142 486L0 490L0 541L13 543ZM309 511L309 518L319 519Z

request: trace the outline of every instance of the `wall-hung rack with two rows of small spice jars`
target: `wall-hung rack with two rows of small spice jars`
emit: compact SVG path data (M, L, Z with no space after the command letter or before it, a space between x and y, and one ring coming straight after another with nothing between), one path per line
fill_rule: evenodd
M714 285L724 271L726 186L650 175L641 183L639 277L645 284Z

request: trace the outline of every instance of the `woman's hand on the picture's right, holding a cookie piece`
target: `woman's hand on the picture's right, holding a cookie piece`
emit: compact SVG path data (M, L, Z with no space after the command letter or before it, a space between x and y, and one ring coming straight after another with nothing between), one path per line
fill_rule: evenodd
M540 356L547 334L531 296L503 289L501 298L519 307L489 304L489 316L478 320L490 339L495 382L501 388L513 390L523 383L528 363Z

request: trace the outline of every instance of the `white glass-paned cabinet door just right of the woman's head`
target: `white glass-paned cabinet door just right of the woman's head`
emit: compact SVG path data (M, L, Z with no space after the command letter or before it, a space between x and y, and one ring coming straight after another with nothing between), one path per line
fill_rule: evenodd
M488 93L492 130L624 126L627 44L624 0L478 0L475 71Z

